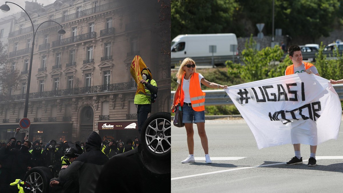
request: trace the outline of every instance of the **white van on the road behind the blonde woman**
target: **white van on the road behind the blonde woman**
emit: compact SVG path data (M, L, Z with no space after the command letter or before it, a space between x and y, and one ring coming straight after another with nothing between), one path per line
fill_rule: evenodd
M186 34L178 35L171 41L170 58L212 56L210 46L216 46L213 56L237 55L230 52L230 45L237 45L236 34Z

